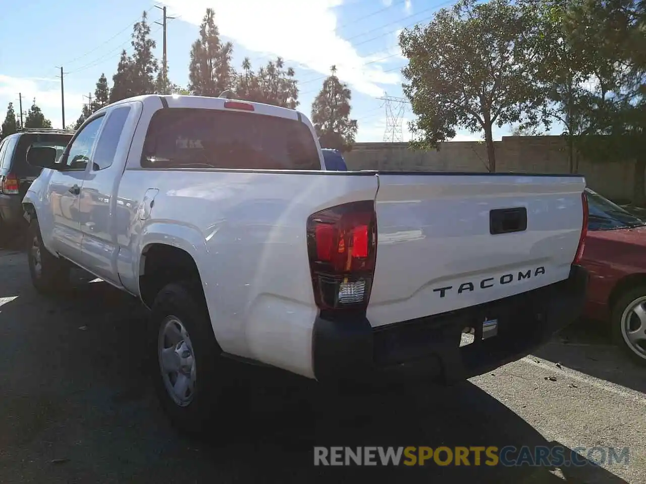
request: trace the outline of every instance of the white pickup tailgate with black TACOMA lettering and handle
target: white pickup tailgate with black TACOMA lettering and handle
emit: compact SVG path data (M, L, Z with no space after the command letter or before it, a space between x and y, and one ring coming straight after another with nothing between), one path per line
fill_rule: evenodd
M568 277L583 223L583 177L378 177L377 263L367 314L373 327Z

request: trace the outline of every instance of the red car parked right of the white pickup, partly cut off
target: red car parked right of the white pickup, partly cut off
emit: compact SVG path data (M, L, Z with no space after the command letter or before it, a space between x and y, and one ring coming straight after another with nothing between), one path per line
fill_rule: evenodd
M610 321L614 342L646 365L646 222L586 192L588 234L581 263L590 281L584 314Z

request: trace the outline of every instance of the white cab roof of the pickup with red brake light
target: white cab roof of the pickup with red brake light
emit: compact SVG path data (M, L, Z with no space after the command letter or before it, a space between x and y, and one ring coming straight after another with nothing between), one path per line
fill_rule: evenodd
M264 114L266 116L278 116L284 117L286 119L299 119L303 115L293 109L282 108L280 106L272 106L264 103L255 103L251 101L244 101L244 99L227 99L225 97L207 97L207 96L183 96L180 94L145 94L143 96L134 96L128 97L127 99L122 99L121 101L116 101L108 106L105 106L101 109L110 108L112 106L129 103L131 101L141 101L144 105L154 104L159 106L161 101L162 105L165 107L171 108L194 108L194 109L217 109L217 110L240 110L247 112L255 112L256 114ZM247 106L253 106L251 108L242 108L236 109L235 107L227 108L225 103L231 103L235 105L236 103L243 103Z

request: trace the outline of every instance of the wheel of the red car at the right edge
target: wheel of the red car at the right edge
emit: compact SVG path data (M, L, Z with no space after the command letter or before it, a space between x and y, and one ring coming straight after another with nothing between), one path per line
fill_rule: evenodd
M612 337L633 361L646 365L646 286L618 299L612 310Z

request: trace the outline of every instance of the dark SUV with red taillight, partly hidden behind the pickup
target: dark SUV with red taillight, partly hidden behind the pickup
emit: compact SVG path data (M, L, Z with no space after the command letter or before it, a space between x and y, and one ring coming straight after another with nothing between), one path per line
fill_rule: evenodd
M31 146L52 146L58 156L72 139L74 131L23 128L0 141L0 239L6 239L26 224L23 197L41 168L27 164Z

